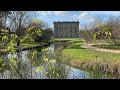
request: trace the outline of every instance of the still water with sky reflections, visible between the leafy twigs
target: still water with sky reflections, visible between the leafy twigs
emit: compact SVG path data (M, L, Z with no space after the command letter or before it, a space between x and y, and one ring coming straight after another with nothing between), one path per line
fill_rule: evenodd
M63 46L63 45L64 45L64 43L62 43L62 44L54 43L54 44L49 45L46 48L49 48L49 50L51 51L51 57L52 57L52 53L54 53L58 47ZM38 58L40 58L40 60L42 60L43 55L44 55L43 52L41 52L41 54L38 54L35 56L34 60L38 60ZM16 57L16 54L14 54L12 56ZM8 57L11 58L11 55L8 54ZM24 63L24 67L26 66L24 72L26 72L26 74L28 75L28 77L30 79L48 79L45 74L46 71L44 68L42 68L42 70L40 70L40 72L35 72L37 66L33 66L32 68L30 67L31 63L32 63L31 50L22 51L21 58ZM42 62L42 61L40 61L40 62ZM37 63L37 65L40 65L40 64ZM82 70L79 70L76 68L72 68L67 65L65 65L65 68L69 69L69 70L67 70L69 72L68 72L66 79L89 79L90 78L90 75L88 72L85 72L85 71L82 71ZM7 70L6 72L4 72L4 74L6 74L6 77L2 77L2 75L0 75L0 78L6 78L6 79L10 78L9 75L11 74L11 72L9 72L9 70ZM31 74L32 74L32 76L31 76Z

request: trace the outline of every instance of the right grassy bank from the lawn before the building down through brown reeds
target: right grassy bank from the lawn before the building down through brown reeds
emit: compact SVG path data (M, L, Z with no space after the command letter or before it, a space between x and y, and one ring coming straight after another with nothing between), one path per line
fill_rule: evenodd
M80 46L85 44L82 39L66 40L73 42L73 44L63 50L65 60L71 66L82 70L98 70L106 73L106 75L120 76L120 54L82 48Z

